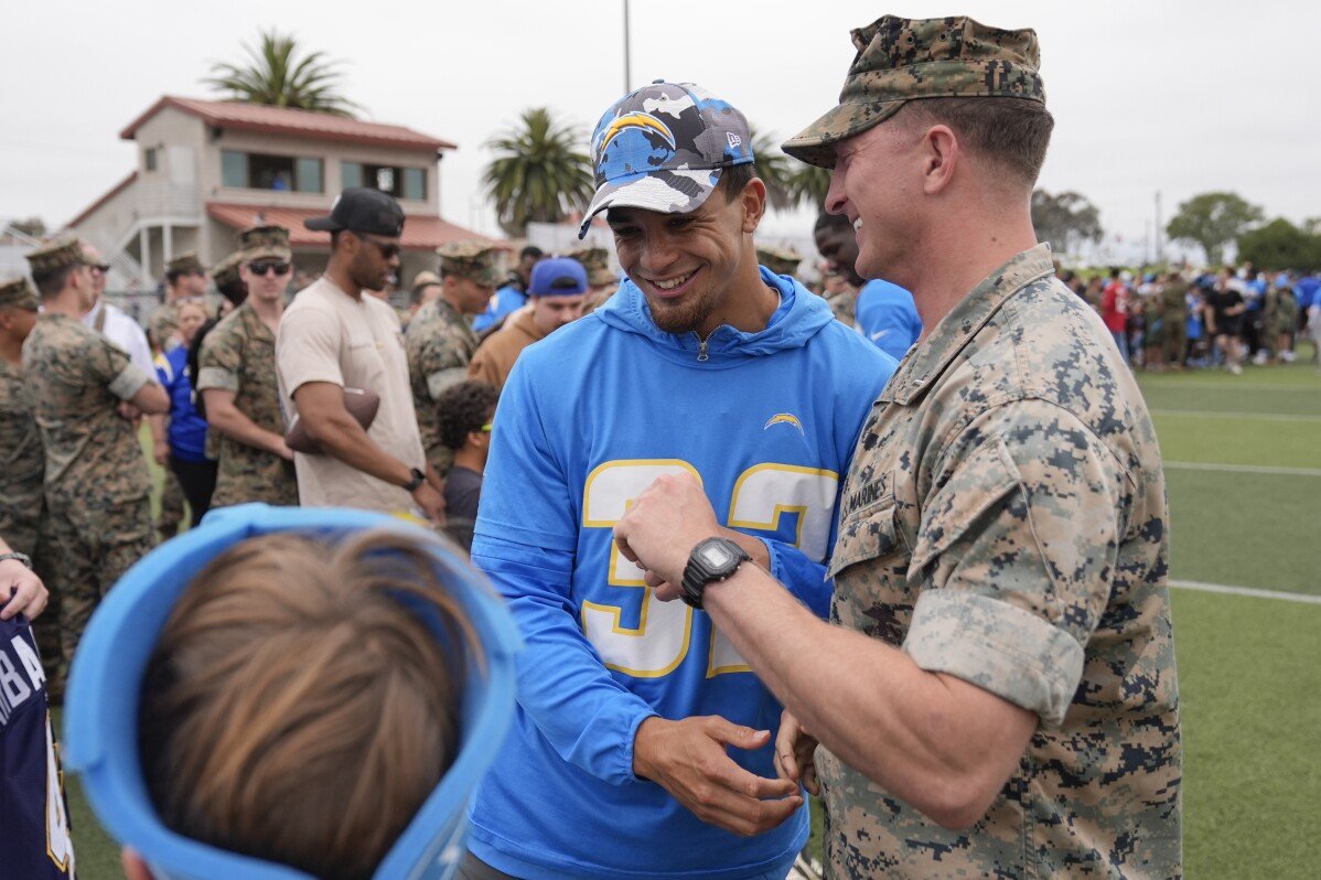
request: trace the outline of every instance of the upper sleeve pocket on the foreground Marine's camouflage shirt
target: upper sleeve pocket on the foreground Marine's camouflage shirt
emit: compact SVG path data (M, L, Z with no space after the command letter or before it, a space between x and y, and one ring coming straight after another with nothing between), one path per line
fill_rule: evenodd
M922 510L909 583L921 579L931 560L1020 485L1018 468L1004 440L995 437L978 447Z

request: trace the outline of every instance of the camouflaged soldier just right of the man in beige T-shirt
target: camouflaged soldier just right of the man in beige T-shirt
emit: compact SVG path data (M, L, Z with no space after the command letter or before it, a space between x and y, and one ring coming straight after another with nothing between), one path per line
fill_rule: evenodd
M469 321L482 313L499 284L499 250L486 242L457 242L443 244L437 254L440 296L408 322L404 348L421 444L428 464L444 478L454 453L441 443L436 398L468 377L468 362L477 351L477 334Z

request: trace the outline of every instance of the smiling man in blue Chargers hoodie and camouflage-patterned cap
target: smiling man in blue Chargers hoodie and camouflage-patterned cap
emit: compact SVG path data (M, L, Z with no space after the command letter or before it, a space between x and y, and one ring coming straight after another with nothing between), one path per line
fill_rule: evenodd
M584 231L608 211L626 279L522 353L493 420L473 560L527 647L461 876L779 880L807 839L798 785L774 778L779 704L612 542L657 476L690 473L731 546L826 613L839 478L896 361L757 264L750 143L691 83L596 127Z

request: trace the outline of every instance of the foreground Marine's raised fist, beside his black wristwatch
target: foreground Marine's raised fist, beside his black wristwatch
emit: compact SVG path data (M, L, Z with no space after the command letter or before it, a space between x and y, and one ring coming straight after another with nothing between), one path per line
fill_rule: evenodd
M697 542L723 534L716 513L690 473L662 474L614 526L620 552L647 571L653 587L683 581ZM662 596L672 599L672 595Z

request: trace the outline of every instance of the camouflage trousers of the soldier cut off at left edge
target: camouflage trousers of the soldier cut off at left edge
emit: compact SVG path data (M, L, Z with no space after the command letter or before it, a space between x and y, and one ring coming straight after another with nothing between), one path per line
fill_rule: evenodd
M32 634L37 640L37 650L46 671L46 692L50 699L59 699L65 690L63 661L59 643L59 583L52 564L54 559L54 535L50 518L46 515L46 499L38 482L34 492L0 488L4 501L0 502L0 538L11 548L32 559L33 571L45 584L50 599L41 617L32 621ZM0 597L0 601L7 597Z

